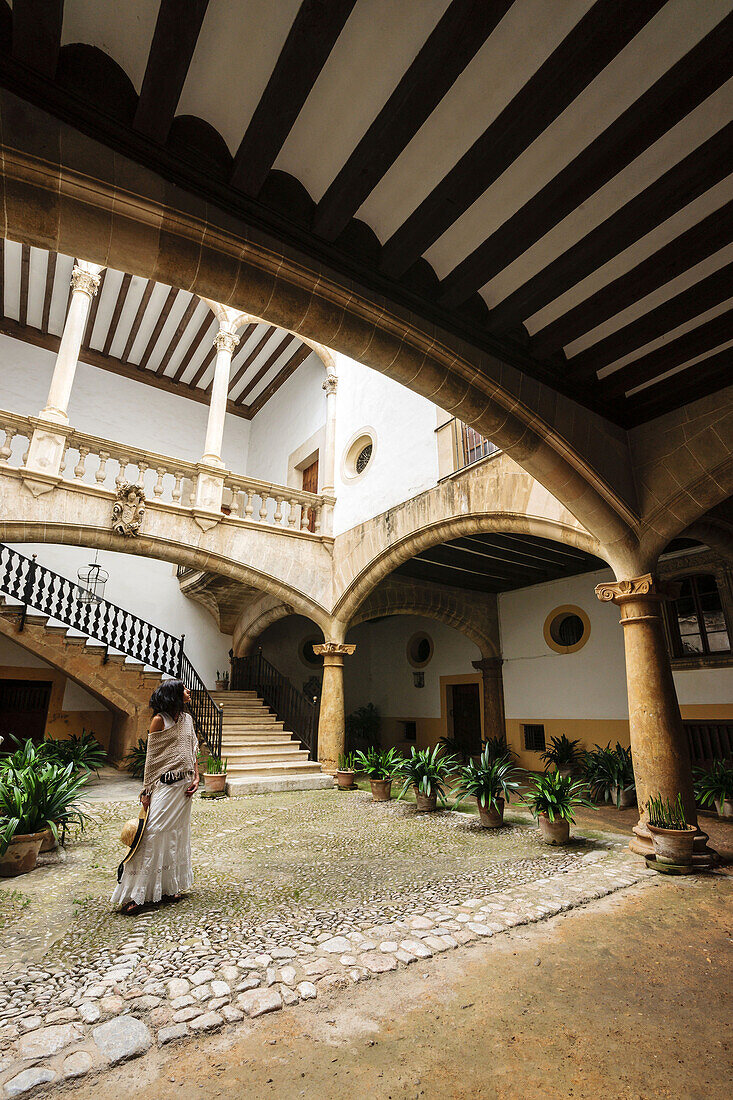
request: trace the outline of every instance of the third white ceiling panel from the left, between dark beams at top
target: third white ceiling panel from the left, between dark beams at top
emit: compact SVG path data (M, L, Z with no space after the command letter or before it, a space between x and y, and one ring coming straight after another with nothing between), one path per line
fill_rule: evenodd
M358 0L274 167L299 179L317 202L447 7L448 0Z

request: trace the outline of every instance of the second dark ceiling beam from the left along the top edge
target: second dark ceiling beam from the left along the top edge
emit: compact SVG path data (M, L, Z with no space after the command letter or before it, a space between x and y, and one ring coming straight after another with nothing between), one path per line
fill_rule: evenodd
M161 0L134 128L164 144L183 91L209 0Z

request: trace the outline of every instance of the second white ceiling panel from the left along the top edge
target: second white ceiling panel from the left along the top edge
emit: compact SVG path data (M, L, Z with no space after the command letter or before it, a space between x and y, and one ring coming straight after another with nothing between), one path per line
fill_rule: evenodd
M197 114L233 155L272 74L300 0L209 0L177 114Z

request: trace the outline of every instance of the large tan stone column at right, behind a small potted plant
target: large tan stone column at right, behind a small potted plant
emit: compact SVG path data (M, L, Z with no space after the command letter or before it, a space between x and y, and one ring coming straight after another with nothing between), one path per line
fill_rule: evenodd
M639 822L630 848L644 856L654 850L646 827L645 806L649 796L660 794L674 801L681 794L688 822L697 825L698 821L689 747L661 618L661 602L675 594L674 585L660 584L650 573L595 587L599 600L621 607L628 725L639 807ZM704 851L705 839L701 833L696 850Z

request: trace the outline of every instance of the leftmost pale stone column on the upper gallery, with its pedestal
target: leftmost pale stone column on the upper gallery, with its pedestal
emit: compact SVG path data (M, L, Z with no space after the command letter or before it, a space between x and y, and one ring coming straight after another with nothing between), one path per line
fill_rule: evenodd
M39 496L50 492L61 475L66 440L72 432L68 424L68 402L72 396L76 364L89 318L91 300L99 289L99 264L79 260L72 271L72 297L64 322L64 332L51 377L45 408L32 418L33 436L29 448L23 481Z

